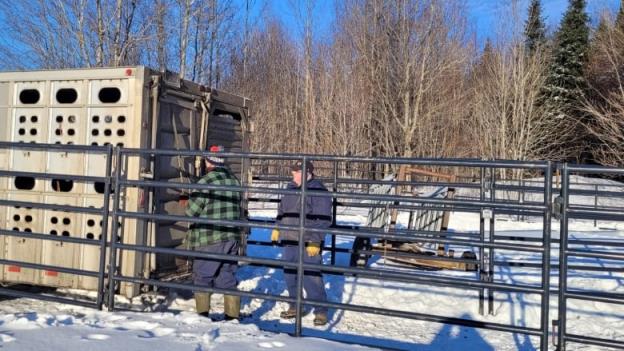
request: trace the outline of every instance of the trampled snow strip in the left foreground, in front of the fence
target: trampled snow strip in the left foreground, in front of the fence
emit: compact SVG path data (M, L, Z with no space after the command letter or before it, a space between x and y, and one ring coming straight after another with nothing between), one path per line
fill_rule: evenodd
M211 322L174 304L175 312L100 312L18 299L0 303L6 350L364 350L317 338L265 332L253 323Z

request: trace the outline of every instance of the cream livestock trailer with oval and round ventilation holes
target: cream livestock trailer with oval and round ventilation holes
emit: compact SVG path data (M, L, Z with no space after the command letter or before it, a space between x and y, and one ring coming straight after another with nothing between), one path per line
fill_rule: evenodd
M248 99L168 72L137 66L0 73L0 142L4 143L177 150L205 150L211 144L221 144L227 151L244 152L248 151L250 132ZM72 177L110 177L106 157L51 148L0 149L0 170L28 175L0 177L0 202L4 201L0 230L90 240L108 234L110 240L110 233L102 233L101 216L11 205L24 202L102 208L110 188L104 182L79 182ZM245 183L246 162L228 162ZM189 157L137 157L123 165L123 172L128 179L184 183L200 175L200 164ZM39 174L59 176L49 179ZM121 206L129 211L182 214L181 195L177 190L127 189ZM180 222L125 219L120 224L117 240L164 248L179 247L187 229L187 224ZM95 277L64 273L62 269L35 269L28 264L97 271L100 251L98 246L2 235L0 260L5 264L0 281L97 289ZM179 273L185 263L171 255L127 251L119 258L121 272L137 277ZM136 284L121 286L120 293L126 296L138 292Z

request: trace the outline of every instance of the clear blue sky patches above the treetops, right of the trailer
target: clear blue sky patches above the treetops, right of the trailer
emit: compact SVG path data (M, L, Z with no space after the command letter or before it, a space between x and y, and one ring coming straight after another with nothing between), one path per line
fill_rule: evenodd
M305 6L305 1L300 0L267 0L268 11L279 18L291 30L293 36L301 35L301 21L298 20L295 8ZM334 6L336 1L341 0L316 0L314 1L314 31L317 35L326 35L334 20ZM470 25L475 28L477 41L483 43L487 37L492 37L498 26L502 7L509 0L464 0L468 10ZM518 6L526 17L530 0L518 0ZM620 0L587 0L587 12L592 20L597 18L598 13L604 8L618 9ZM568 6L568 0L542 0L543 15L549 30L557 29L559 21Z

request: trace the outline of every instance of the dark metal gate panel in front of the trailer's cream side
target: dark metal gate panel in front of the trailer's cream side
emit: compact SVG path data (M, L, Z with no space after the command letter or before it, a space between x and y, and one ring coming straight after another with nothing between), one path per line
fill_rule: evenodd
M110 219L112 146L0 142L0 156L5 155L4 151L19 154L26 163L30 157L47 157L55 162L64 158L84 163L94 155L104 156L105 174L101 176L71 171L61 174L20 170L25 165L15 163L6 170L0 169L0 184L7 189L0 194L0 219L7 225L6 229L0 228L2 280L9 286L20 283L55 288L91 286L97 291L97 298L89 301L33 294L10 287L0 288L0 294L101 309ZM17 156L13 156L15 158ZM59 168L62 164L55 166ZM74 182L101 187L101 194L91 196L91 200L96 199L102 205L90 206L89 199L72 193L72 188L78 186ZM87 227L95 227L96 221L100 222L103 233L99 238L97 234L87 233L95 232ZM89 260L84 259L85 256Z

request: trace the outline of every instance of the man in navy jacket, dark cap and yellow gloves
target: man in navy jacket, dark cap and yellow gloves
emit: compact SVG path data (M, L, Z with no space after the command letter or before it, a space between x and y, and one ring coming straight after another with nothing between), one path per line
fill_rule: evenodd
M302 163L297 162L291 169L292 182L287 189L297 190L301 188L302 183ZM306 162L306 191L327 191L327 188L314 178L314 166L311 162ZM328 228L332 219L332 198L329 196L310 196L306 195L305 199L305 227L306 228ZM301 214L301 198L296 194L287 194L282 197L277 210L278 224L298 226ZM305 243L305 252L303 262L310 264L321 264L321 244L325 234L305 231L303 241ZM271 233L271 240L280 240L283 245L283 259L288 262L298 262L299 260L299 231L298 230L282 230L274 229ZM294 269L284 269L284 279L288 295L294 297L297 295L297 271ZM320 272L305 272L303 276L303 289L308 299L317 301L326 301L327 295L323 284L323 277ZM327 309L317 307L314 311L314 324L324 325L327 323ZM295 318L296 310L294 305L290 305L286 311L280 314L281 318Z

